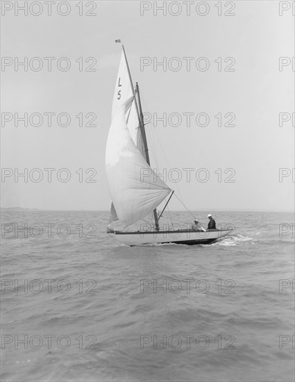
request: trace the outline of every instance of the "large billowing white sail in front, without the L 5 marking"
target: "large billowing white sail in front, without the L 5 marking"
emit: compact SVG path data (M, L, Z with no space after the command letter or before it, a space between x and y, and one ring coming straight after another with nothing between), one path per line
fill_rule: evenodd
M128 226L149 215L171 189L135 146L126 124L133 97L117 107L106 144L106 174L117 217Z

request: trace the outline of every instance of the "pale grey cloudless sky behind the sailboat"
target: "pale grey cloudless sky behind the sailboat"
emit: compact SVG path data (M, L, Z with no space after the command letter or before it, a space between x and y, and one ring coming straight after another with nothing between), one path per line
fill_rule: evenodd
M166 15L153 1L67 4L24 15L1 2L2 207L109 209L121 39L149 113L151 167L187 208L294 210L292 2L158 1ZM16 123L24 113L28 126Z

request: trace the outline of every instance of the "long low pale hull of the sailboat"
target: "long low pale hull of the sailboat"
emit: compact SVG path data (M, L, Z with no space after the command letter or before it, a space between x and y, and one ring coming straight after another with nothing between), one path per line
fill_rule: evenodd
M129 245L143 244L210 244L219 238L223 238L233 230L214 229L206 232L179 230L179 231L146 231L146 232L123 232L115 231L115 238L121 243Z

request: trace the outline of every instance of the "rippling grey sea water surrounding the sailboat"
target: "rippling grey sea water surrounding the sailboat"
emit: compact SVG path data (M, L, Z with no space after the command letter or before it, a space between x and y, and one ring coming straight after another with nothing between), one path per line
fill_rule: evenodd
M214 216L124 247L105 212L3 211L1 381L293 381L294 215Z

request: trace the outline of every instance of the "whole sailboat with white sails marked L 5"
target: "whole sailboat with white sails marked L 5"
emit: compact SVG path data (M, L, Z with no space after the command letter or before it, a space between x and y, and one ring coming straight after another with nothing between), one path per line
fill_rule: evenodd
M121 40L116 42L121 43ZM215 229L204 232L187 227L175 230L160 226L160 218L174 190L151 168L140 88L138 83L133 86L123 44L106 144L106 176L112 199L107 232L115 235L121 244L210 244L232 231ZM159 212L157 207L166 199ZM140 224L139 229L130 229L148 215L153 216L153 224ZM112 227L117 221L122 228Z

